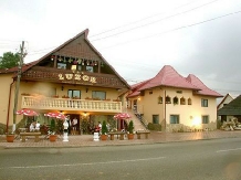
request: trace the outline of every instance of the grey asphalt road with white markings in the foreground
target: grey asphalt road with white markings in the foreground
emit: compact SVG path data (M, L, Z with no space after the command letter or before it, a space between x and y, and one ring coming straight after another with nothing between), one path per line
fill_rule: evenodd
M240 180L241 139L0 149L1 180Z

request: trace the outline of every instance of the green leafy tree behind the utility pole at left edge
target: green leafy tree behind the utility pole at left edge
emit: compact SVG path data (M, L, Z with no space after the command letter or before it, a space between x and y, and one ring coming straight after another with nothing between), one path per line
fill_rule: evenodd
M18 66L20 62L19 53L13 54L12 52L3 53L3 56L0 56L0 68L11 68Z

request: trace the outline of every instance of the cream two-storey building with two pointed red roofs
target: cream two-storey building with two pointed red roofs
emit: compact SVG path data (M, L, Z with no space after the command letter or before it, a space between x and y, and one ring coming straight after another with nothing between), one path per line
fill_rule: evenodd
M182 77L169 65L127 95L128 107L144 124L160 124L166 131L216 129L218 97L195 75Z

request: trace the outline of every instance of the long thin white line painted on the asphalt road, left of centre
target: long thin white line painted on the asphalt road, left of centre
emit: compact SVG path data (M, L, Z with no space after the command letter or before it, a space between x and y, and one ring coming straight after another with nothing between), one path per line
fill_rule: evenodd
M108 165L108 163L124 163L124 162L137 162L148 160L159 160L166 157L156 157L147 159L132 159L132 160L119 160L119 161L106 161L106 162L88 162L88 163L70 163L70 165L46 165L46 166L27 166L27 167L2 167L1 169L35 169L35 168L56 168L56 167L77 167L77 166L90 166L90 165Z

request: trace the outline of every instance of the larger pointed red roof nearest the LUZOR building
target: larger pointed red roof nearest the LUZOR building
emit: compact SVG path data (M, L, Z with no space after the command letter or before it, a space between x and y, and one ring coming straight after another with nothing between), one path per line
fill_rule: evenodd
M169 86L169 87L181 87L189 89L200 89L192 85L185 77L174 70L170 65L165 65L159 73L151 78L148 83L139 88L139 91L157 87L157 86Z

